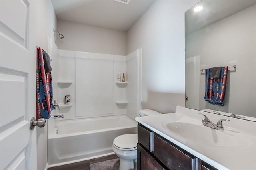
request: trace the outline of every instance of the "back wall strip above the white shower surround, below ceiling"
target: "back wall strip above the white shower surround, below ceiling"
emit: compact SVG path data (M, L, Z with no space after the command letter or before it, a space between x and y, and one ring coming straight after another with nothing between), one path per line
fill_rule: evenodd
M58 20L59 49L126 55L126 32Z

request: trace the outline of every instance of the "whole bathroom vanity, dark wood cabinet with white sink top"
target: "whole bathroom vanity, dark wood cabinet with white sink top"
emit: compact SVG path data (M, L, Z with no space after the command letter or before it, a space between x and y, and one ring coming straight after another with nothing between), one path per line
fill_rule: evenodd
M216 130L202 125L198 111L179 106L176 113L137 117L138 170L255 169L256 122L200 113L214 123L230 121Z

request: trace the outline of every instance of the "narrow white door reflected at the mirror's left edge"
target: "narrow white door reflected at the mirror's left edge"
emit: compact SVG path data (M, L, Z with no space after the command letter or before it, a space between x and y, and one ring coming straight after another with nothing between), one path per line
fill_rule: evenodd
M186 107L200 109L200 57L186 58Z

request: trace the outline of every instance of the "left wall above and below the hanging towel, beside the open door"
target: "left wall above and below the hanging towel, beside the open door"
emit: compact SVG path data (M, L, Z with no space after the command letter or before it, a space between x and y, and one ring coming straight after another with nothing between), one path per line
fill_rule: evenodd
M56 16L51 0L37 0L36 43L39 47L48 51L48 37L54 41L53 28L56 28ZM36 54L35 54L36 55ZM35 56L36 57L36 56ZM52 58L54 59L54 58ZM36 64L36 63L34 63ZM55 66L52 65L54 71ZM53 93L54 94L54 93ZM36 128L37 131L37 169L44 170L47 166L47 121L44 128Z

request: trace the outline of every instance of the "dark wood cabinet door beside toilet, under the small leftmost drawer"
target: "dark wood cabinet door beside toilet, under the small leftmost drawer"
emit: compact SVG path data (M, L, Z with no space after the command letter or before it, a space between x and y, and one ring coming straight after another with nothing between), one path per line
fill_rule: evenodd
M138 170L165 170L140 144L138 144Z

